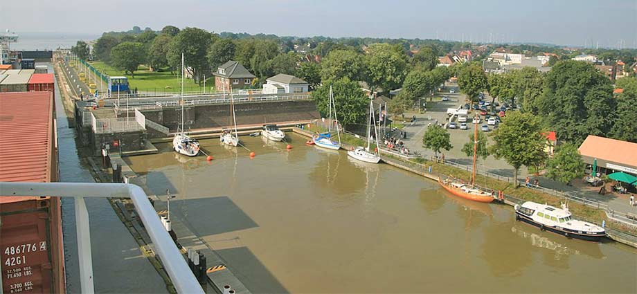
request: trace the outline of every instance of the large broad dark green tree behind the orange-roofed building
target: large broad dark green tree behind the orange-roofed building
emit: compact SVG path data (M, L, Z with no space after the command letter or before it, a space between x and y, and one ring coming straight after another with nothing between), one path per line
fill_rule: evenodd
M608 134L615 121L611 81L586 62L557 62L546 74L536 104L546 125L559 130L558 140L575 144L589 134Z

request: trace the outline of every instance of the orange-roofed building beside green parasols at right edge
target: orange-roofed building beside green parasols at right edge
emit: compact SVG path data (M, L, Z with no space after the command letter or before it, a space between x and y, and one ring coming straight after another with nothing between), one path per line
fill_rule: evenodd
M637 143L589 135L578 148L590 174L597 159L598 172L626 172L637 176Z

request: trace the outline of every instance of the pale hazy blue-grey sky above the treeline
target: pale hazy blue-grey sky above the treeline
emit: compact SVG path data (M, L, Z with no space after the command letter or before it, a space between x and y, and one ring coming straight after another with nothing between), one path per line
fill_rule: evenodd
M214 32L637 48L637 0L20 0L0 29L88 33L195 26Z

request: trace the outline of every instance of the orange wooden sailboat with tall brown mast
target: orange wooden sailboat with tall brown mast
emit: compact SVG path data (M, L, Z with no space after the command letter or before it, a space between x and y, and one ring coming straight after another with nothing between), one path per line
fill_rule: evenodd
M477 117L477 113L476 113ZM475 187L476 184L476 160L478 159L478 123L474 120L474 165L471 174L471 183L466 185L462 181L451 180L449 178L442 180L438 178L438 183L447 190L447 192L454 194L464 199L472 201L478 201L483 203L490 203L495 198L487 191L483 191Z

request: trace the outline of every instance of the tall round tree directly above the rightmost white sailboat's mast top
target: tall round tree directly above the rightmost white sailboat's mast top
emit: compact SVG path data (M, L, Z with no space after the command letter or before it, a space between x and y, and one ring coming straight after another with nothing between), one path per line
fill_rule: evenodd
M405 55L390 44L372 44L365 55L366 82L371 89L384 91L400 88L405 80L407 63Z

